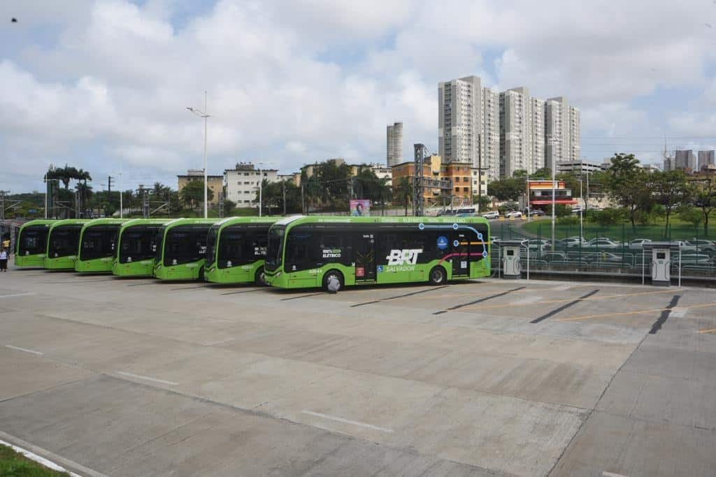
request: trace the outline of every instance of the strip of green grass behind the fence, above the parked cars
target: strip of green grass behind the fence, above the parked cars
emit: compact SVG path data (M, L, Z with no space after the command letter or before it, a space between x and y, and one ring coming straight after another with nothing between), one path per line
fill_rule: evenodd
M499 227L499 225L498 225ZM531 235L539 235L542 238L551 236L551 221L548 219L534 220L523 224L523 230ZM650 240L692 240L697 239L716 239L716 225L710 225L708 235L704 236L704 227L694 227L686 222L672 220L669 230L664 229L664 223L656 225L637 225L632 230L630 223L617 223L614 225L594 224L584 222L584 237L589 240L595 237L609 237L614 240L631 241L635 238L645 238ZM579 235L579 224L561 224L556 223L554 227L554 235L557 238L572 237Z

